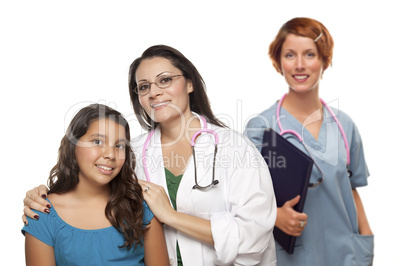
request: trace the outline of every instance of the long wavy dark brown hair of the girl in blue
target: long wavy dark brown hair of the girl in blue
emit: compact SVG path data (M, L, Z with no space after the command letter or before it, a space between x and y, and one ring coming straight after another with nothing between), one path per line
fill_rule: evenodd
M92 104L74 116L61 140L57 164L50 171L49 194L65 193L77 186L79 167L75 158L76 144L86 134L90 124L102 118L113 120L125 128L126 160L119 174L109 183L110 199L105 208L105 215L110 223L124 234L125 243L121 247L130 249L133 245L142 245L146 229L143 223L142 188L134 173L135 156L130 146L130 128L118 111L102 104Z

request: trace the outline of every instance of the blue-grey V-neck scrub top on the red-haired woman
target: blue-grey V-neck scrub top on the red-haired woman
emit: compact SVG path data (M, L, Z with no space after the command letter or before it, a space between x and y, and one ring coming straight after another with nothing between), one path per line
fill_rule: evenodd
M267 128L279 132L275 103L249 121L244 134L261 151L263 132ZM290 255L277 244L278 265L371 265L374 237L359 235L356 206L352 188L367 185L369 172L364 159L362 140L352 119L340 110L331 108L339 119L350 147L348 177L346 148L338 125L324 108L324 119L316 140L303 125L284 108L280 121L284 130L299 133L315 162L325 175L324 182L308 189L303 212L308 215L307 226L297 238L294 254ZM286 137L286 135L285 135ZM294 137L287 138L303 152L303 145ZM272 159L271 163L274 163ZM310 182L316 183L321 173L313 168Z

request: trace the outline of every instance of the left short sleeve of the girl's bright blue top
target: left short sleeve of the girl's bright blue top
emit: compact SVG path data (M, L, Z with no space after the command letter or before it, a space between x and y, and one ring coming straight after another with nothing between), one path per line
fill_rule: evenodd
M54 213L51 209L49 214L45 214L36 210L33 210L39 215L38 220L34 220L28 217L28 225L25 225L21 232L25 236L25 233L30 234L43 243L54 246Z

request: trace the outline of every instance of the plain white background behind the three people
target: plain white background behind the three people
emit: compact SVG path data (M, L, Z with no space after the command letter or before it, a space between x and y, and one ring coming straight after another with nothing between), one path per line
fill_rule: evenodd
M375 233L375 265L401 265L397 1L4 2L1 265L24 264L22 199L46 182L75 111L106 103L132 120L133 136L143 132L134 121L127 73L146 48L180 50L204 77L215 114L243 131L251 116L286 92L267 51L281 25L299 16L321 21L335 40L321 96L354 119L364 141L371 177L359 192Z

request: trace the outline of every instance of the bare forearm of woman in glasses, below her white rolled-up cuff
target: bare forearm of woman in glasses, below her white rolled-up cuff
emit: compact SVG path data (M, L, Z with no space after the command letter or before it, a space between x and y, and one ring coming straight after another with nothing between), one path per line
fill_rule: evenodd
M175 211L165 223L176 230L189 235L201 242L214 245L211 222L196 216Z

